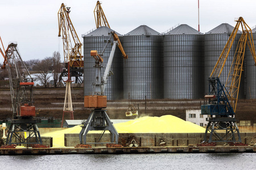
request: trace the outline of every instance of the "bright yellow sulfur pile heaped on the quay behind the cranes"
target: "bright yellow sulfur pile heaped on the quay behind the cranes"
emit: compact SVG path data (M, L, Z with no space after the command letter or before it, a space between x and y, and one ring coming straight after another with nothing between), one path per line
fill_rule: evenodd
M166 115L161 117L141 117L135 120L114 124L118 133L204 133L205 129L192 122L184 121L178 117ZM81 127L77 125L59 131L43 134L42 137L52 137L53 147L64 147L64 134L80 133ZM101 133L101 131L89 131ZM107 132L106 132L107 133ZM108 132L109 133L109 132Z

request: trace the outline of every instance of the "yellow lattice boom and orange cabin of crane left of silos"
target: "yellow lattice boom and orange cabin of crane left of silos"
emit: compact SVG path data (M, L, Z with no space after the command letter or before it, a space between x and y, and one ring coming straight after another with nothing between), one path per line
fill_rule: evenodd
M58 12L59 21L59 37L62 32L63 39L63 50L64 50L64 62L70 63L71 67L84 67L84 61L82 60L82 43L77 36L76 30L69 18L69 7L65 7L64 3L61 4L60 10ZM71 36L75 46L72 48Z

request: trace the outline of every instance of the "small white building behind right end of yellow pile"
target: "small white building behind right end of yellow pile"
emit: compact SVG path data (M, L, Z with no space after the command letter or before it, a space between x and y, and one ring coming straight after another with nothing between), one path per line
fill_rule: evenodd
M186 110L186 121L192 122L199 126L207 126L208 115L202 115L201 110Z

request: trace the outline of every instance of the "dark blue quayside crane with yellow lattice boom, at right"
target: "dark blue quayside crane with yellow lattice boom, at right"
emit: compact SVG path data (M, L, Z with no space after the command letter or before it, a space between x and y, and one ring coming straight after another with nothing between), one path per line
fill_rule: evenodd
M250 27L245 23L242 17L236 20L237 24L233 29L228 41L212 73L209 81L209 94L205 95L208 104L201 105L201 114L208 114L208 125L205 130L204 142L240 142L241 136L237 127L237 120L234 117L236 113L238 92L240 80L243 71L243 59L245 56L246 44L249 46L251 55L256 65L256 55L253 42L253 35ZM232 65L230 66L228 78L225 86L220 82L220 75L225 66L226 59L229 56L230 49L237 35L238 28L242 28L242 35L238 41L236 53L234 54ZM225 133L219 133L219 131ZM207 134L209 133L209 139ZM238 139L236 139L236 134Z

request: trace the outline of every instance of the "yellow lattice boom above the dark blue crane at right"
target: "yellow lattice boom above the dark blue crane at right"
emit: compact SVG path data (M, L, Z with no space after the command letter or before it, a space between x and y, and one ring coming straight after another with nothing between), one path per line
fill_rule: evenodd
M237 24L234 27L228 42L226 42L226 45L222 50L222 53L218 58L218 61L214 66L212 73L210 74L210 77L220 77L222 70L225 66L226 59L228 58L230 49L233 45L234 39L237 35L238 28L241 25L242 35L238 41L236 53L234 54L232 65L230 67L228 78L225 84L225 87L228 90L230 95L229 100L231 101L230 104L232 105L234 112L236 112L236 107L237 107L237 99L238 99L240 80L241 80L241 75L243 70L242 67L243 67L243 59L245 56L246 44L249 46L250 52L253 56L253 59L256 65L256 55L255 55L253 34L251 32L251 28L245 23L242 17L237 19L236 22Z

